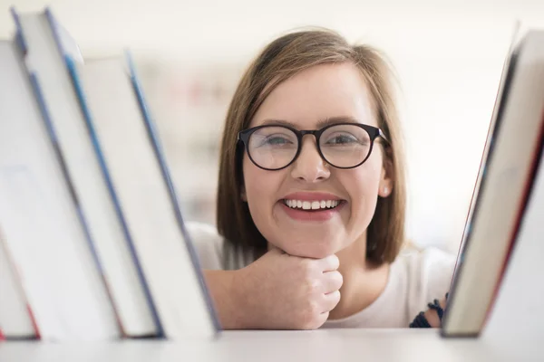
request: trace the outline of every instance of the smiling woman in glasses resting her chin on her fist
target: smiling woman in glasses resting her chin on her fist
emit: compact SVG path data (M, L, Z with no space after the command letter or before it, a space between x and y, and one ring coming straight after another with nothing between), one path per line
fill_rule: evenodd
M401 129L384 57L337 33L288 33L238 84L218 231L191 224L226 329L409 327L455 258L407 252Z

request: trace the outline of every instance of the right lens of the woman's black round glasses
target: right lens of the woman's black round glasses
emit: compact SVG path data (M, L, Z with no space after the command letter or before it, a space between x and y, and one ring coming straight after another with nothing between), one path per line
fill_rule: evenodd
M323 157L335 167L359 165L368 157L371 145L368 132L356 125L333 126L319 140Z

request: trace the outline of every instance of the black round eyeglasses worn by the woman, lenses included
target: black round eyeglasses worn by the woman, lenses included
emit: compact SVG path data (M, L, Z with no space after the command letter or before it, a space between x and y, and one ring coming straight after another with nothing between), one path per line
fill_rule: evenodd
M335 123L315 130L298 130L283 125L257 126L238 132L238 141L244 143L255 166L276 171L295 162L305 135L314 135L317 152L336 168L363 165L378 137L389 143L381 129L352 122Z

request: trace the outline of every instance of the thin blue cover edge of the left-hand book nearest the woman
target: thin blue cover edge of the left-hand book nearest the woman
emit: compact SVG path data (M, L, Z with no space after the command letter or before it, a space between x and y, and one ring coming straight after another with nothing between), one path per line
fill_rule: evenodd
M180 210L180 205L178 201L179 199L178 199L178 196L176 195L175 187L173 186L171 182L169 167L166 164L165 157L163 155L162 148L160 146L160 140L159 140L159 137L157 136L157 132L155 131L155 127L151 119L150 111L148 110L146 101L143 97L143 91L141 90L141 85L140 85L140 82L138 81L136 69L135 69L134 63L132 62L131 55L129 52L126 53L126 59L129 65L132 87L134 89L136 98L138 99L138 102L140 104L141 113L143 115L146 129L148 130L148 136L149 136L151 145L155 151L155 157L157 157L157 160L160 164L162 177L170 193L170 202L172 204L172 209L176 216L176 220L178 221L178 224L180 226L180 231L185 241L185 246L187 247L187 250L189 252L189 257L190 257L190 261L192 262L192 267L198 275L200 290L202 291L204 300L207 303L209 315L210 315L210 318L212 319L211 320L212 324L216 332L218 332L219 330L221 330L219 318L217 316L217 312L215 310L213 302L209 296L208 287L206 285L206 281L204 281L204 276L202 275L202 272L200 269L200 262L197 256L197 252L194 249L189 233L185 227L185 223L183 222L183 217L181 216L181 210Z

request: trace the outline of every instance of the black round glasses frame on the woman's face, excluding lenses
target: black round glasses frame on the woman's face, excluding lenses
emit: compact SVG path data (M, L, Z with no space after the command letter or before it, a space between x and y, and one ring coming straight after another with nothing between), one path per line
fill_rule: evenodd
M319 138L321 138L321 135L325 132L326 129L330 129L331 127L335 127L335 126L346 126L346 125L355 126L355 127L359 127L361 129L364 129L366 131L366 133L368 133L368 135L370 136L370 149L368 150L368 155L366 155L366 157L364 157L364 160L361 161L360 163L358 163L357 165L350 166L350 167L337 167L334 164L332 164L331 162L329 162L326 159L326 157L323 155L323 152L321 152L321 146L320 146L320 143L319 143ZM270 128L270 127L275 127L275 128L282 127L284 129L289 129L293 133L295 133L295 135L296 135L296 138L297 138L297 141L298 141L297 148L296 148L296 154L293 157L293 159L284 167L279 167L279 168L262 167L262 166L257 164L257 162L253 159L253 157L251 157L251 153L249 152L249 138L251 137L251 135L255 131L257 131L258 129L264 129L264 128ZM370 155L372 154L372 150L374 148L374 140L376 138L378 138L378 137L383 138L384 141L387 142L388 145L390 144L389 139L387 139L384 136L384 132L382 131L382 129L378 129L377 127L370 126L370 125L365 125L363 123L354 123L354 122L334 123L334 124L327 125L322 129L308 129L308 130L298 130L298 129L295 129L293 127L289 127L287 125L274 125L274 124L262 125L262 126L253 127L253 128L250 128L250 129L244 129L244 130L238 132L238 139L237 140L238 140L238 142L241 141L244 144L244 148L246 149L246 152L248 153L248 157L251 160L251 162L253 162L253 164L255 166L257 166L259 168L262 168L264 170L267 170L267 171L278 171L280 169L291 166L293 164L293 162L295 162L296 158L300 155L300 151L302 150L302 140L306 135L314 135L314 137L316 138L317 152L319 153L319 156L321 158L323 158L327 164L331 165L332 167L341 168L341 169L355 168L355 167L359 167L359 166L363 165L364 162L368 159L368 157L370 157Z

